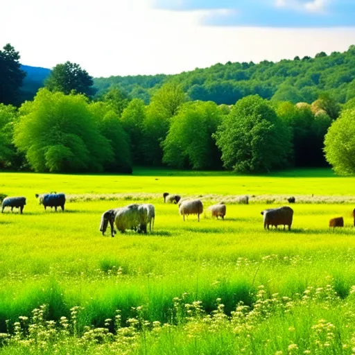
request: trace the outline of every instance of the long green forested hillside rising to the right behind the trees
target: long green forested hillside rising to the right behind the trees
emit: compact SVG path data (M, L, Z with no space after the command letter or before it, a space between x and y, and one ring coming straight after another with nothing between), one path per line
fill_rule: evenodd
M148 103L150 96L167 81L182 84L191 100L233 105L240 98L259 94L262 98L293 103L315 101L327 91L345 103L355 96L355 46L344 53L294 60L215 64L174 76L111 76L96 78L94 87L101 94L108 87L120 86L132 98Z

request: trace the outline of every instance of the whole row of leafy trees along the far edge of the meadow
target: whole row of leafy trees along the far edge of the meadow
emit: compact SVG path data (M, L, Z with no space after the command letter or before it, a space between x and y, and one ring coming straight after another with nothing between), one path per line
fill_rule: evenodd
M23 77L18 53L12 60L6 75L15 68ZM9 102L16 89L2 94L0 168L130 173L133 165L165 164L259 173L329 162L338 173L355 172L355 98L340 105L329 92L311 104L250 95L218 105L192 100L171 81L147 105L120 87L96 96L92 87L87 71L66 62L33 101L17 108Z

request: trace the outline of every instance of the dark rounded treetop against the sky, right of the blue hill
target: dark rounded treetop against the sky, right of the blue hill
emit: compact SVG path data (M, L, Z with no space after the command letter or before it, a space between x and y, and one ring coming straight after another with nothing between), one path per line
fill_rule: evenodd
M86 96L91 96L94 93L92 85L94 85L92 76L89 76L79 64L71 62L57 64L45 83L51 92L62 92L68 95L74 91L76 94Z

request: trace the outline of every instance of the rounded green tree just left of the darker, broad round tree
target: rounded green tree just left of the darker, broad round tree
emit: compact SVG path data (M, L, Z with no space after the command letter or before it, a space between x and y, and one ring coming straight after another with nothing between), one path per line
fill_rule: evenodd
M173 117L163 142L163 162L173 168L220 168L220 152L212 135L223 113L216 103L185 103Z

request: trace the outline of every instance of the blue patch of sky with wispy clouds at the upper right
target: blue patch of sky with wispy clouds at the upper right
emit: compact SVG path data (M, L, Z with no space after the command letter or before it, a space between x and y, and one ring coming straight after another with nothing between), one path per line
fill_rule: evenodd
M355 26L355 0L156 0L155 7L211 10L203 24L212 26Z

